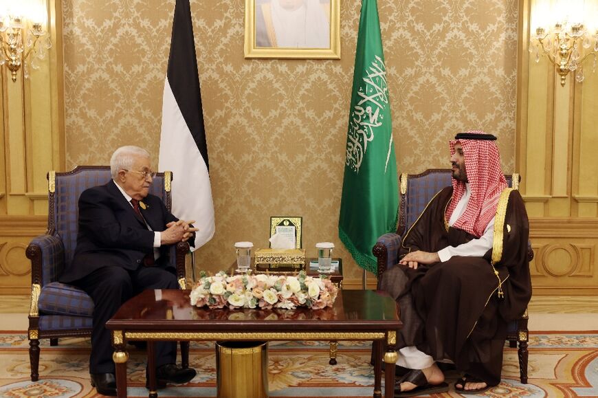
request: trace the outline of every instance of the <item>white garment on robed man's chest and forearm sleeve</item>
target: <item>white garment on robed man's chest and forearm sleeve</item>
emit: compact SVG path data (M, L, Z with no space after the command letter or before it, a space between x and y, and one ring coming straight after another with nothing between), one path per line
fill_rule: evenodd
M472 197L472 189L469 187L468 183L465 183L465 193L463 194L463 197L461 197L461 200L459 200L457 203L453 214L451 214L449 226L452 226L458 220L458 218L461 217L461 214L465 212L465 208L467 207L470 197ZM492 248L493 241L494 217L492 217L486 226L484 234L478 239L472 239L471 241L458 246L447 246L438 252L438 256L440 257L440 261L443 262L448 261L452 256L482 257L488 250Z

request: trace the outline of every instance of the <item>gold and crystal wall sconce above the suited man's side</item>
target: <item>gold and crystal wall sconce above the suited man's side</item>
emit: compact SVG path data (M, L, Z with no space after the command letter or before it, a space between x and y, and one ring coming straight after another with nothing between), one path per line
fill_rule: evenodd
M29 23L31 28L27 30ZM52 47L52 41L43 30L41 22L29 23L20 15L0 14L0 66L6 65L10 69L13 82L16 82L16 72L21 65L23 76L29 78L27 60L32 69L39 69L35 58L43 60L47 49Z

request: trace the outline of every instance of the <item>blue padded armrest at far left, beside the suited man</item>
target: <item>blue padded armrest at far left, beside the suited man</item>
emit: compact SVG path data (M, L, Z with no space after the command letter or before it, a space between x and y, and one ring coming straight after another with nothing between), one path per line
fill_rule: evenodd
M31 240L25 256L31 260L32 285L56 282L65 267L65 246L56 235L39 235Z

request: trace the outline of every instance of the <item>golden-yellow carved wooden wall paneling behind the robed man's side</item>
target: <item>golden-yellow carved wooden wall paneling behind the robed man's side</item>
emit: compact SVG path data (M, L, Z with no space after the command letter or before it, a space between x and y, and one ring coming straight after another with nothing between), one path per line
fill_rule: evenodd
M516 169L529 215L534 294L598 293L598 75L565 87L529 55L540 0L519 1Z

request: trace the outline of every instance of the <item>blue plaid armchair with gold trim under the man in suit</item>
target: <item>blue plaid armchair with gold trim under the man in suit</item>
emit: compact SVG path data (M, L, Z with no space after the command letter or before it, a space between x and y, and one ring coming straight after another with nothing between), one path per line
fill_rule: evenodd
M150 192L162 198L170 210L172 173L158 173ZM91 336L93 301L85 291L58 282L58 276L72 261L78 230L78 200L87 188L106 184L111 179L108 166L79 166L67 173L51 171L48 179L47 232L34 238L27 247L31 260L31 307L29 313L29 357L31 379L39 374L39 339L49 338L51 345L58 338ZM188 243L179 243L170 252L170 261L177 269L181 289L185 289L185 255ZM181 343L184 367L189 363L188 343Z

